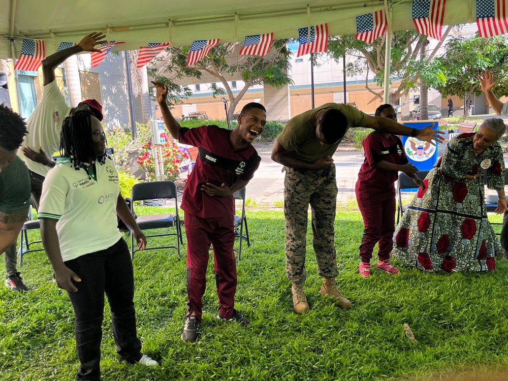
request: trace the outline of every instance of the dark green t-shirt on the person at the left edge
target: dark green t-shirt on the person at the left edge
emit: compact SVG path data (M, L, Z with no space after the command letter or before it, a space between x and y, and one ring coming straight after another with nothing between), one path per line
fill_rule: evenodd
M18 157L0 172L0 212L12 213L26 208L30 200L30 175Z

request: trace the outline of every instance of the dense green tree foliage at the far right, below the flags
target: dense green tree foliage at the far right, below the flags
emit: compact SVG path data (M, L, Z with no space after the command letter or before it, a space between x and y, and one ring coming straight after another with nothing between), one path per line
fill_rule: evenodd
M444 96L461 99L482 93L478 75L485 69L496 78L496 92L508 95L508 36L481 38L453 37L447 41L444 54L432 61L425 81Z

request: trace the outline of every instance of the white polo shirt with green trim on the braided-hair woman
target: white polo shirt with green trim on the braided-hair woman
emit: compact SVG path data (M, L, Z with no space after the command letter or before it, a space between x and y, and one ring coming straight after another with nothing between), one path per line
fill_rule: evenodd
M89 179L84 169L76 171L69 158L61 158L44 180L39 218L58 220L64 262L107 249L122 237L116 217L118 172L108 158L96 169L97 178Z

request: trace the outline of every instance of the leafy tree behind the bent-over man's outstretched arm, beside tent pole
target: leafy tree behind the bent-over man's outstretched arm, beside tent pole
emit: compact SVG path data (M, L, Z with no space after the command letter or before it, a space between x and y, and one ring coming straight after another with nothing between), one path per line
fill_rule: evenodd
M442 34L442 40L448 36L451 26L447 27ZM438 43L432 51L427 52L424 60L420 59L422 45L426 44L428 37L420 35L416 30L396 31L392 37L392 60L390 79L400 81L399 86L390 93L389 103L394 104L399 98L415 90L420 85L422 73L429 70L430 63L441 47ZM369 72L374 74L374 81L383 87L385 80L385 49L386 34L367 44L355 39L355 36L333 36L328 41L328 54L337 62L342 61L342 56L357 58L350 60L346 65L348 75L365 75L365 88L374 96L383 100L383 92L374 91L368 82Z

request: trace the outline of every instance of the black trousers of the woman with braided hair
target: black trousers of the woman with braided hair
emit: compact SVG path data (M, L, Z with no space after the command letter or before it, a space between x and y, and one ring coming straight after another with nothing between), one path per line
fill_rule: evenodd
M77 292L69 293L75 314L76 349L81 363L79 381L100 381L104 293L108 297L113 335L120 361L135 363L142 357L136 333L134 272L129 247L121 238L113 246L66 261L81 278Z

